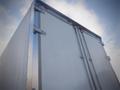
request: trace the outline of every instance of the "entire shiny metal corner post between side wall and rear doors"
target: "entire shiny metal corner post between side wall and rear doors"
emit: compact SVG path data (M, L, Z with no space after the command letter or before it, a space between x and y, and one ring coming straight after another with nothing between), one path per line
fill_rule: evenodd
M28 65L26 90L42 90L41 79L41 33L40 11L36 9L34 0L31 6L31 22L29 32Z

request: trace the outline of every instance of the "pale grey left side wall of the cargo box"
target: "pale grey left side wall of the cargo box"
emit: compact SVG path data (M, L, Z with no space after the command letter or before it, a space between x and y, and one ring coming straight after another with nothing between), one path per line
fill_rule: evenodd
M0 57L0 90L26 90L31 10Z

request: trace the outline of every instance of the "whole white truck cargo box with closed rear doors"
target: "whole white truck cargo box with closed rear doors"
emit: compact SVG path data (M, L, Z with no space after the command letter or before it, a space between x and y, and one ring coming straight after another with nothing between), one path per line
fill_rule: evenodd
M120 90L100 36L36 0L0 57L0 90Z

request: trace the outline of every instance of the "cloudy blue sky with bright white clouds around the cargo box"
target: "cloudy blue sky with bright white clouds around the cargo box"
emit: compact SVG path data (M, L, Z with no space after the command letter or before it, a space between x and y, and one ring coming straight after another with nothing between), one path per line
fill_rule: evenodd
M120 80L120 0L43 0L100 35ZM0 55L32 0L0 0Z

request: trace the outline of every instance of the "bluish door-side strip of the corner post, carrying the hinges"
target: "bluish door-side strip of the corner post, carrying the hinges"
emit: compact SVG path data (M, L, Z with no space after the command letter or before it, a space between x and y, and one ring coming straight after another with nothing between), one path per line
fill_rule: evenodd
M35 43L34 43L34 47L35 47L35 65L33 66L33 69L35 69L35 73L37 75L35 75L36 77L33 77L33 78L36 78L34 81L34 86L36 87L33 87L33 90L42 90L42 77L41 77L41 26L40 26L40 11L39 10L36 10L36 2L35 2L35 5L34 5L34 30L33 30L33 33L34 33L34 40L35 40ZM35 67L35 68L34 68Z

